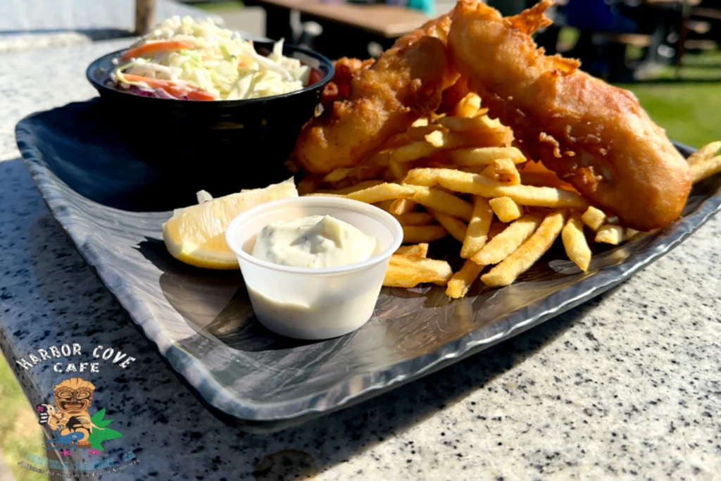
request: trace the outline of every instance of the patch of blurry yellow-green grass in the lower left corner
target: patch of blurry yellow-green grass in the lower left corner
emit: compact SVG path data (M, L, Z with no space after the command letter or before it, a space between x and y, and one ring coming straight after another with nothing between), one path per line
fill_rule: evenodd
M10 366L4 356L0 355L0 448L4 462L16 481L48 481L48 475L32 472L19 467L17 463L25 459L25 453L45 457L43 449L43 431L37 424L35 412L22 393Z

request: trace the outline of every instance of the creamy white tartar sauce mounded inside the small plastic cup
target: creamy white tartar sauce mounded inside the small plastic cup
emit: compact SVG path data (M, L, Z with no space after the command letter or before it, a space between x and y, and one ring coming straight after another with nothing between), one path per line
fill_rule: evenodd
M378 241L331 216L275 221L263 227L252 255L296 268L330 268L363 262L376 254Z

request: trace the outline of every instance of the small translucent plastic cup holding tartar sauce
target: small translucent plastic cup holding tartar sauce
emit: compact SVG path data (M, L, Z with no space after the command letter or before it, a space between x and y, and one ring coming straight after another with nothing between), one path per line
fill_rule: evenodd
M273 221L332 216L379 243L368 260L333 268L296 268L252 256L258 232ZM353 332L373 315L403 229L389 213L345 198L311 196L256 206L231 221L226 242L238 257L255 316L267 329L297 339Z

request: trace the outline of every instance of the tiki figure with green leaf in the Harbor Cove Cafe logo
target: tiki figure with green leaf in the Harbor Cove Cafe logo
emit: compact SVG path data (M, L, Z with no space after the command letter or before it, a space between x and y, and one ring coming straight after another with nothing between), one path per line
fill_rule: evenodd
M40 424L47 424L55 436L45 442L48 449L90 449L92 454L105 451L104 441L123 435L107 425L112 419L105 419L105 408L90 415L90 406L95 386L79 377L65 379L53 389L55 405L37 405Z

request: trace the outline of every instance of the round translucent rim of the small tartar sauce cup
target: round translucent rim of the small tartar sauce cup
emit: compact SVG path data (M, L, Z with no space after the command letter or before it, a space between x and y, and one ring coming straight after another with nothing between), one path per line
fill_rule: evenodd
M255 216L258 215L258 213L267 211L267 209L273 207L280 208L284 205L291 206L304 203L319 206L327 205L329 207L345 207L348 211L360 212L369 217L375 217L376 219L384 221L384 224L386 224L386 226L388 226L389 229L393 231L393 242L383 252L372 255L371 257L368 257L368 259L361 262L353 262L353 264L340 265L332 268L296 268L288 265L275 264L274 262L268 262L266 260L260 260L257 257L249 254L248 252L245 252L242 245L239 245L236 241L236 233L239 231L239 229L242 229L243 224L247 223L247 221L249 221L250 219L253 219ZM292 274L324 275L349 273L354 270L363 270L379 262L383 262L386 259L389 259L391 255L393 255L393 253L396 252L396 250L398 250L398 247L400 247L403 243L403 227L401 226L400 222L390 213L384 211L379 207L361 202L360 200L314 195L311 197L293 197L271 200L270 202L262 203L259 206L249 208L247 211L240 213L230 222L230 224L228 225L228 229L226 229L225 237L228 247L230 247L230 250L233 251L236 256L242 257L243 260L251 262L252 264L258 265L262 268L278 270L280 272Z

